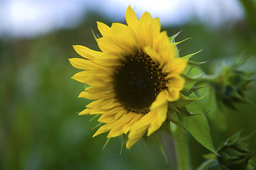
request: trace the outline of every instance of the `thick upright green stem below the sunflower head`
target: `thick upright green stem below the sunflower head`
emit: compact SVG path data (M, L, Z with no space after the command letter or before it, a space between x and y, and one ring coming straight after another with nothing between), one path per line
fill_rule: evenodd
M189 159L188 159L188 145L186 142L186 133L181 128L176 127L174 130L176 137L176 158L178 162L179 170L189 170Z

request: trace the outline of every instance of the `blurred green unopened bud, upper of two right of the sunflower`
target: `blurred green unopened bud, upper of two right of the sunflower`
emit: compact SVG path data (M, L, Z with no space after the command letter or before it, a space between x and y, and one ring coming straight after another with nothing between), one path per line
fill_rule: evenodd
M251 72L241 70L240 67L247 58L237 60L234 64L224 65L220 72L214 77L204 77L203 80L211 84L215 90L216 100L219 104L224 104L228 108L236 110L237 103L250 103L245 91L252 81Z

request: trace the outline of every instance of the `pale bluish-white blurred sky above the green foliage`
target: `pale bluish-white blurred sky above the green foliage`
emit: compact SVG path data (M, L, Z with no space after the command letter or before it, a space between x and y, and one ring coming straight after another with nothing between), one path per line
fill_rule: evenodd
M74 26L89 9L113 22L124 21L129 5L138 17L148 11L165 26L181 25L195 17L218 26L244 17L238 0L1 0L0 35L29 37Z

